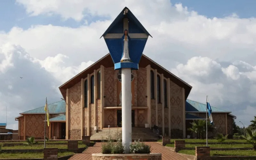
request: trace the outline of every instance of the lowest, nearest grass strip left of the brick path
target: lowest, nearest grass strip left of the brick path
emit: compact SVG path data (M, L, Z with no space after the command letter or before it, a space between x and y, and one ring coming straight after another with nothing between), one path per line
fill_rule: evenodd
M72 155L74 152L59 152L58 157ZM0 158L43 158L44 153L1 153Z

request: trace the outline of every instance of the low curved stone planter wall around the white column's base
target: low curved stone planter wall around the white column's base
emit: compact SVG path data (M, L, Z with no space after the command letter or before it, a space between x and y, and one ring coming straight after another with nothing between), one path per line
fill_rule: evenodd
M162 160L161 153L150 153L150 154L92 154L92 160L132 160L132 159L143 159L143 160Z

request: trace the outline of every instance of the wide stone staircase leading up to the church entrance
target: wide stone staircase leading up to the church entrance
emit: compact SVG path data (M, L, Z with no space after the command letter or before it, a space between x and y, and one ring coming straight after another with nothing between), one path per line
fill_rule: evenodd
M108 131L110 130L110 131ZM93 141L101 141L101 140L107 140L107 132L111 132L111 139L116 140L119 137L122 140L122 127L118 128L103 128L102 130L99 130L99 132L94 133L91 136L91 140ZM139 128L139 127L132 127L132 140L138 140L140 141L157 141L160 139L159 135L156 133L153 133L153 131L149 128Z

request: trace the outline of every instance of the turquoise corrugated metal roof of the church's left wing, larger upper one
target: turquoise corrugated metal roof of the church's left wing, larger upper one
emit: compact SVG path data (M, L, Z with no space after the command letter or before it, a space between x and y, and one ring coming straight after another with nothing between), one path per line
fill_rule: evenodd
M52 104L48 104L48 109L50 114L66 113L66 102L65 100L61 100L58 102L54 102ZM45 114L44 106L29 111L25 111L20 114Z

